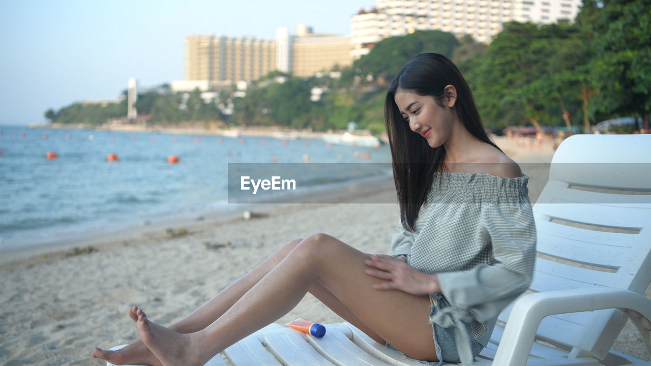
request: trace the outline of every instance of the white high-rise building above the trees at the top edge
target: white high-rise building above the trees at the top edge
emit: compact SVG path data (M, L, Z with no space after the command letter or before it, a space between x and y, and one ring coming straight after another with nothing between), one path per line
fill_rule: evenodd
M581 0L378 0L351 18L351 56L366 55L383 38L439 29L488 44L507 21L574 21Z

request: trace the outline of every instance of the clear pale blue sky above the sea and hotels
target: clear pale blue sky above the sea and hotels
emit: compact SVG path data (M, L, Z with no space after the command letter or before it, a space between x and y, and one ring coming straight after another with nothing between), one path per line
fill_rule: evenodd
M350 17L374 0L0 0L0 125L45 123L81 100L117 98L184 78L184 39L197 34L273 39L350 34Z

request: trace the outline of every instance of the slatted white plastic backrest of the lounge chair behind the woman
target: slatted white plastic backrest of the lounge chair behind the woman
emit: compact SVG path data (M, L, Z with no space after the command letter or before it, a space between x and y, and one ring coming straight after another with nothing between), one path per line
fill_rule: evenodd
M650 168L651 135L574 135L561 144L534 205L531 291L644 292L651 281ZM627 319L618 309L547 317L537 339L572 350L570 356L603 359Z

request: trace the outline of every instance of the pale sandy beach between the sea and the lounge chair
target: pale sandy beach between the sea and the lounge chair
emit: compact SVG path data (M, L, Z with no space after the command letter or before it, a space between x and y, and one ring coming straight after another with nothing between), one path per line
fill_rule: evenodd
M500 139L530 176L534 202L553 150ZM354 193L353 193L354 194ZM0 365L103 365L94 346L137 339L130 305L169 324L212 298L284 243L326 232L365 252L387 253L398 219L392 184L365 192L365 202L258 205L261 217L206 217L76 242L5 253L0 259ZM166 231L166 229L172 229ZM76 249L75 249L76 248ZM650 297L647 289L645 295ZM341 319L308 295L280 323ZM615 350L649 359L629 321Z

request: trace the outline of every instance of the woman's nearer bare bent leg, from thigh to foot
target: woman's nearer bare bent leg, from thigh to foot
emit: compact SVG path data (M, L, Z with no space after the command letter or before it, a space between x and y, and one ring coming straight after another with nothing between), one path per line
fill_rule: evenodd
M365 274L368 255L324 234L305 238L210 326L181 334L137 311L141 339L163 365L203 365L218 352L290 311L314 284L333 294L359 321L408 356L436 359L427 296L378 291Z

